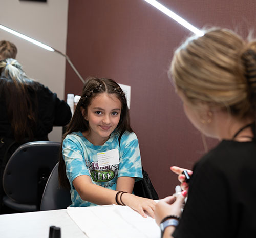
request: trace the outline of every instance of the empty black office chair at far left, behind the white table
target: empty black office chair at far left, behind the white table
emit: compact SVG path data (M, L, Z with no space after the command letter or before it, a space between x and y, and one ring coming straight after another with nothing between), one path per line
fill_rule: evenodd
M38 211L50 172L58 161L60 143L28 142L10 157L3 175L5 206L17 212Z

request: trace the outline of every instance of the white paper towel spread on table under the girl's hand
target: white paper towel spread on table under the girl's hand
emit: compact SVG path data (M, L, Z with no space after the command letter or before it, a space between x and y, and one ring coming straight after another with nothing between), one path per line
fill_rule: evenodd
M153 218L127 206L68 207L67 212L89 238L160 238Z

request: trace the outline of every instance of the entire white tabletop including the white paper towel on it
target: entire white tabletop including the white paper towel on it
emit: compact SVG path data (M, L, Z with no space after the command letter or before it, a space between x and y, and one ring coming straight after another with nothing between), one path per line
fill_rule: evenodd
M117 205L0 215L0 238L48 238L50 226L61 238L160 238L153 218Z

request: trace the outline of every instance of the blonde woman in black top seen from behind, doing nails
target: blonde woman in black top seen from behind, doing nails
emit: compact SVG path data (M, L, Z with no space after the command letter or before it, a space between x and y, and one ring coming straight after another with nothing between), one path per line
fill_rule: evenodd
M182 214L182 195L156 205L162 237L255 236L256 41L206 30L176 50L170 73L187 118L220 143L189 171L189 190L184 169L170 168L188 197Z

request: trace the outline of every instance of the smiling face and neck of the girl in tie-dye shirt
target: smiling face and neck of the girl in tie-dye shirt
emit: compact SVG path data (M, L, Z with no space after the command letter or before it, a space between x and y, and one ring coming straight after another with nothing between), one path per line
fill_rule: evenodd
M82 109L84 119L88 121L90 131L83 135L94 145L103 145L117 127L122 104L114 94L100 93L92 99L87 115Z

